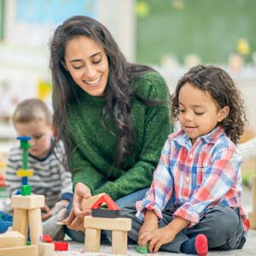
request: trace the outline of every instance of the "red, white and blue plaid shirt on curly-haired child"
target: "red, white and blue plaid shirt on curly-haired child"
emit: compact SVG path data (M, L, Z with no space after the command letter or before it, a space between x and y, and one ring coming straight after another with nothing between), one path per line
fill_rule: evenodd
M171 203L173 218L180 217L195 225L208 207L222 205L240 208L244 230L249 220L241 208L241 156L236 145L215 128L192 145L183 131L172 133L162 149L154 179L143 201L137 201L137 218L145 209L162 218Z

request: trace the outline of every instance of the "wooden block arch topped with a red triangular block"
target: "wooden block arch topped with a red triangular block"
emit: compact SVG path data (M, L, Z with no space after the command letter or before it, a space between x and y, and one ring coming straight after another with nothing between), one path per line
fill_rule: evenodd
M101 209L107 204L108 209ZM92 210L92 216L84 217L86 252L99 252L101 230L112 230L112 253L126 254L127 232L131 230L131 218L119 218L119 208L106 194L84 200L84 208Z

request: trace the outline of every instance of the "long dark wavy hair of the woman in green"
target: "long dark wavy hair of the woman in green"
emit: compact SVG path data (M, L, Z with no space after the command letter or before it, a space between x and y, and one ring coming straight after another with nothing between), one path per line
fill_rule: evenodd
M108 56L108 84L104 91L107 103L102 109L101 118L104 125L104 117L113 117L119 131L118 151L113 162L114 166L119 166L125 156L131 154L134 142L130 112L131 98L137 95L131 88L131 80L153 69L125 61L124 55L120 52L108 29L90 17L73 16L56 28L54 36L49 42L49 66L53 82L55 109L53 125L55 137L57 140L61 139L65 145L65 154L67 155L65 166L67 168L68 160L74 149L68 134L67 105L78 101L79 86L75 84L70 73L63 67L63 62L67 42L81 36L91 38L96 44L101 45Z

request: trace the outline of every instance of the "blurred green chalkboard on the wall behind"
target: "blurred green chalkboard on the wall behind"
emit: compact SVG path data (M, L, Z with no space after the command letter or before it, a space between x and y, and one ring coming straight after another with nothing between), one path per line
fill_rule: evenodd
M137 0L149 14L137 16L137 61L160 63L162 55L183 62L195 53L207 63L225 63L236 53L239 38L256 51L254 0ZM177 5L175 5L177 4Z

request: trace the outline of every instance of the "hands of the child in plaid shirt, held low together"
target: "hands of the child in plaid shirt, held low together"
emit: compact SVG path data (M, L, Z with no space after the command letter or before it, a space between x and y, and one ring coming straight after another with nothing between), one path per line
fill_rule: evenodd
M148 242L148 252L157 253L163 244L171 242L175 238L175 234L168 226L153 231L143 232L139 236L138 244L145 247Z

